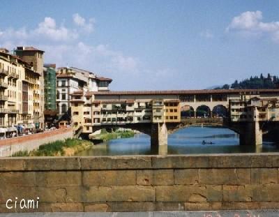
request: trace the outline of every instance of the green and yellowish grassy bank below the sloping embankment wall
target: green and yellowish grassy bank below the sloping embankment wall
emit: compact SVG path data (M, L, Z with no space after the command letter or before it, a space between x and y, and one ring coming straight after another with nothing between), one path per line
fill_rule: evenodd
M65 141L58 140L41 145L33 151L19 151L13 154L16 156L73 156L79 151L89 149L93 145L87 140L67 139Z

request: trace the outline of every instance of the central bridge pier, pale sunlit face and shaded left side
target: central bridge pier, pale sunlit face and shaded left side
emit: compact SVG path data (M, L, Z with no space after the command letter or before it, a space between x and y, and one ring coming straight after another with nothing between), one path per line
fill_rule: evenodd
M165 123L151 125L151 152L167 154L167 126Z

